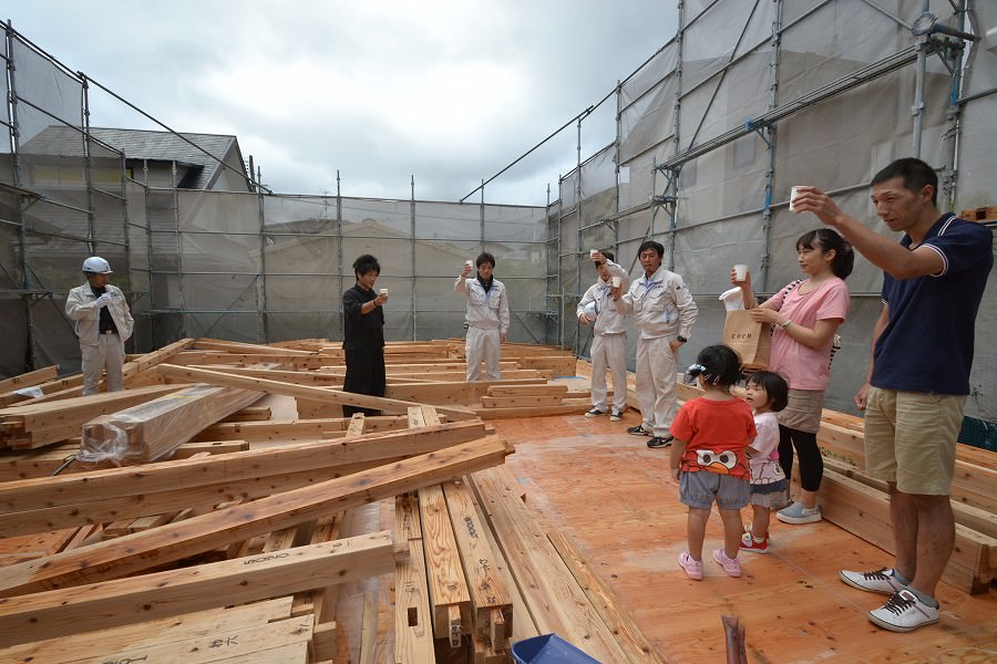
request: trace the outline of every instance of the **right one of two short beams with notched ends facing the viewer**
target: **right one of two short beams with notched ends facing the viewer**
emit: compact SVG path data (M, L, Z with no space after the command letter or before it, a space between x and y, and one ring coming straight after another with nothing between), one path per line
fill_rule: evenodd
M496 556L482 537L487 527L479 519L476 499L463 480L443 483L442 488L471 593L473 634L502 649L505 634L512 629L513 609L505 582L498 575ZM492 624L493 618L502 623L501 627ZM493 641L498 633L500 640Z

